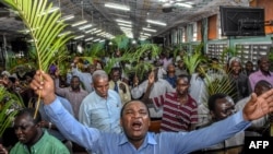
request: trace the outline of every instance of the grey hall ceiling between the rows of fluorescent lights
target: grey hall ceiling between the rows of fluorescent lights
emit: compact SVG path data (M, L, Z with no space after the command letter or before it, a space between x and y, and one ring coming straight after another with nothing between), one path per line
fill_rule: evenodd
M122 34L117 19L130 21L132 24L132 37L138 39L143 33L150 37L163 36L169 29L199 21L203 17L218 13L219 5L249 5L249 0L48 0L59 7L62 15L73 14L75 17L67 21L73 24L81 20L87 20L92 27L79 29L68 26L75 35L84 35L81 39L90 37L104 38L106 34L115 36ZM112 2L130 8L130 11L120 11L106 8L105 3ZM190 4L192 8L179 7L177 3ZM146 20L161 21L165 26L147 23ZM97 36L94 33L86 34L92 28L102 29L106 34ZM143 27L156 29L156 32L143 31ZM19 31L24 29L21 20L4 5L0 7L0 40L3 37L8 40L23 37ZM145 34L147 35L147 34ZM108 35L107 35L108 36ZM94 40L93 39L93 40Z

